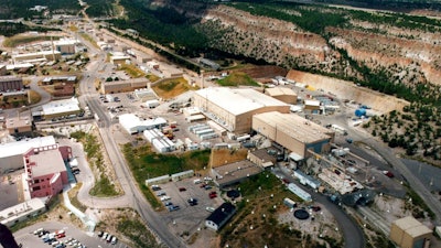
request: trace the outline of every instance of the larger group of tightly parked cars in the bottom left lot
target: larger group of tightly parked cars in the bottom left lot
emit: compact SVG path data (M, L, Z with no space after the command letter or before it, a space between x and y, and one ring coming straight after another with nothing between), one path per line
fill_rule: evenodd
M39 228L34 230L34 235L39 236L39 238L41 238L43 242L54 248L65 248L67 246L74 248L86 248L86 246L78 240L72 237L66 238L66 233L63 229L51 233L46 229Z

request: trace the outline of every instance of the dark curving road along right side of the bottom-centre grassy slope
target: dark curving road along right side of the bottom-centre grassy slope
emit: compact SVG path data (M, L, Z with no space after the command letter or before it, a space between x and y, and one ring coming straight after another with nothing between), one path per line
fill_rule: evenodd
M280 170L283 177L289 180L290 182L294 182L292 176L290 175L290 171ZM362 228L356 224L356 222L344 212L344 209L330 202L326 196L315 193L310 187L305 187L303 185L298 186L302 187L304 191L311 194L312 198L322 204L335 218L338 225L338 229L343 233L344 238L344 247L345 248L364 248L365 247L365 238Z

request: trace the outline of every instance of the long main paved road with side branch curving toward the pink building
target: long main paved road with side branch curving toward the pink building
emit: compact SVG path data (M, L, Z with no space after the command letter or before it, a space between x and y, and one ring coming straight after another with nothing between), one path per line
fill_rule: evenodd
M131 172L126 164L125 158L122 157L119 144L116 143L112 138L111 132L111 119L106 114L105 109L100 106L97 100L97 93L95 91L94 80L99 78L99 73L97 73L98 66L103 65L106 54L101 51L96 50L93 45L89 48L98 54L97 61L92 62L87 67L88 73L86 73L85 79L79 83L79 88L82 93L80 101L87 103L90 110L99 117L98 127L101 134L105 148L109 154L109 159L114 165L116 175L119 183L125 192L125 196L118 198L108 200L96 200L90 198L87 193L82 192L78 197L80 201L88 205L89 207L117 207L118 204L132 206L141 215L142 219L147 223L150 229L153 230L160 240L162 240L169 247L185 247L180 238L170 233L166 224L162 222L160 216L151 208L150 204L146 201L142 193L139 191L138 185ZM89 184L87 185L90 186ZM85 187L85 192L87 188Z

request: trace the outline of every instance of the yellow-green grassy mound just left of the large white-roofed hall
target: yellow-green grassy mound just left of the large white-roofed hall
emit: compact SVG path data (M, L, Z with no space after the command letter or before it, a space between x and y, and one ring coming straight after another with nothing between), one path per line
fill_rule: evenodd
M161 83L155 84L152 88L158 96L163 99L170 99L187 90L197 89L196 87L189 85L183 77L162 80Z

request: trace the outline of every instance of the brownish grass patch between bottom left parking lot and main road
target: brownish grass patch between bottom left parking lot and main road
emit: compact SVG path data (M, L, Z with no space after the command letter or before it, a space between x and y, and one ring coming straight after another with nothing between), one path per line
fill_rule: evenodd
M147 229L146 225L141 223L140 216L119 216L117 230L133 241L135 247L143 248L159 248L154 236Z

